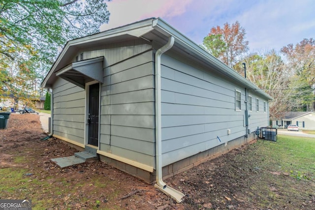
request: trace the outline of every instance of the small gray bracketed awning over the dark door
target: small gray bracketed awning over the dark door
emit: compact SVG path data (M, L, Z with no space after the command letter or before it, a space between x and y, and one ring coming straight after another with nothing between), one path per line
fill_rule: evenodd
M85 83L96 80L103 83L103 60L99 57L70 63L56 71L56 76L85 89Z

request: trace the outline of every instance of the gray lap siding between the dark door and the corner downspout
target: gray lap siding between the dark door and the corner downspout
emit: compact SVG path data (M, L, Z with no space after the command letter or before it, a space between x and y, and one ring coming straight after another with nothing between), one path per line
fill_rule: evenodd
M153 52L111 64L104 69L104 81L100 102L100 150L154 167Z

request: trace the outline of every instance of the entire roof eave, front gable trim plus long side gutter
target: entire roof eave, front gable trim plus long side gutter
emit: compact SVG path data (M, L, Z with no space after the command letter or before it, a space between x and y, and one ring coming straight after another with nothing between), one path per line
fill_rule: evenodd
M216 69L220 70L220 73L233 79L234 81L237 81L241 84L243 84L246 88L249 90L257 92L259 95L265 97L268 100L272 100L273 98L264 92L263 90L259 89L257 86L252 84L249 80L244 78L242 75L234 71L232 68L224 64L221 60L217 59L216 57L212 56L210 53L208 53L206 50L201 48L199 45L197 45L195 42L190 40L187 36L185 36L183 33L179 32L178 30L174 29L171 25L166 23L161 18L150 18L143 21L139 21L133 24L129 24L123 27L119 27L116 29L111 29L107 31L103 31L100 33L96 33L90 36L74 39L71 41L68 41L66 45L64 46L62 52L58 56L57 60L53 64L52 68L50 69L49 73L45 77L45 79L42 82L43 88L50 88L50 84L47 84L49 78L52 76L52 74L58 70L56 67L59 65L59 63L63 60L64 55L67 53L69 48L76 47L81 44L90 43L90 42L96 42L99 40L106 40L111 37L128 34L135 37L141 37L144 34L152 31L157 30L160 33L164 34L166 37L173 36L175 38L175 42L185 48L185 50L191 52L192 54L196 55L201 60L204 60L205 62L211 64Z

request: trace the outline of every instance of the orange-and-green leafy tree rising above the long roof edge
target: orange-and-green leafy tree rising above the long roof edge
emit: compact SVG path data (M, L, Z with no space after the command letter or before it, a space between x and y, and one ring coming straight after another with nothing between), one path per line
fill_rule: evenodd
M203 39L203 46L226 65L233 67L249 49L245 34L245 29L238 21L231 26L225 23L223 28L211 28Z

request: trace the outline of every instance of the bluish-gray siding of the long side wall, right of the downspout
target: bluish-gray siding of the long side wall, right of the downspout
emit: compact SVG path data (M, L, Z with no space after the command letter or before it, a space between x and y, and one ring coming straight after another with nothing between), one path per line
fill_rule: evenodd
M163 55L161 62L163 166L246 134L244 87L183 60ZM235 110L235 90L241 110ZM266 124L263 118L255 119Z

